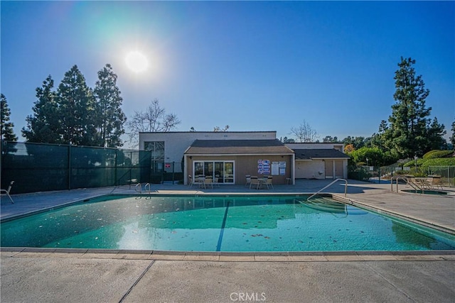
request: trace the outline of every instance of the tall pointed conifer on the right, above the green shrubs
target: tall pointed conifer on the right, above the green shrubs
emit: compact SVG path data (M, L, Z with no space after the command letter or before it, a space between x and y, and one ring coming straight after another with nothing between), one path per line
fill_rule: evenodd
M392 105L392 114L389 124L381 123L380 141L384 148L397 158L412 158L414 155L422 156L429 151L429 146L439 141L444 128L435 124L432 136L429 138L432 108L425 105L429 90L425 89L422 76L417 76L411 58L401 59L399 69L395 72L396 103ZM384 121L383 121L384 122ZM431 149L431 148L430 148Z

